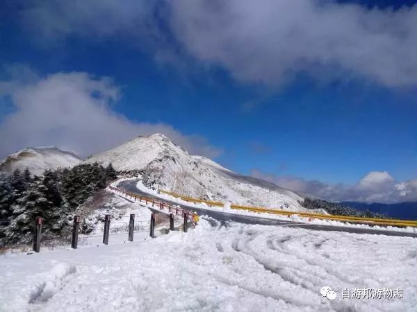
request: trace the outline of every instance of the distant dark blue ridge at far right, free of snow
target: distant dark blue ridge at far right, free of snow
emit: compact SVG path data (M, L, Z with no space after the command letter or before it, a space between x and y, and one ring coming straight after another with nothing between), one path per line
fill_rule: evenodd
M341 202L342 205L354 207L361 211L372 211L391 218L417 220L417 202L398 202L396 204L367 204L366 202Z

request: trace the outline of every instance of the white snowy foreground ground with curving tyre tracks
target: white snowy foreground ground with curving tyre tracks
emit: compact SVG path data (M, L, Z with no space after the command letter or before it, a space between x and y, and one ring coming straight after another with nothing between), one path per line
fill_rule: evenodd
M0 310L415 311L416 243L202 220L156 239L3 255ZM342 299L343 288L401 288L404 298Z

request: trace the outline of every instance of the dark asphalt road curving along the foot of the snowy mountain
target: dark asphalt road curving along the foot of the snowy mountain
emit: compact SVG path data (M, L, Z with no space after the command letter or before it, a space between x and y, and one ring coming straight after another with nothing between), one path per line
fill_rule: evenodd
M318 225L318 224L311 224L311 223L300 223L296 221L261 218L258 216L244 216L241 214L231 214L229 212L214 211L210 209L201 209L201 208L196 208L196 207L188 206L188 205L179 205L177 202L165 200L163 198L159 198L151 194L140 191L139 189L136 188L137 182L138 180L122 181L119 184L117 184L117 187L120 187L121 189L129 191L131 193L136 193L140 196L147 196L148 198L155 198L156 200L165 202L167 205L178 205L190 211L195 211L200 215L211 216L212 218L215 218L216 220L223 221L223 222L234 221L234 222L245 223L245 224L300 227L303 229L314 229L314 230L320 230L320 231L349 232L349 233L357 233L357 234L381 234L381 235L389 235L389 236L409 236L409 237L417 238L417 233L384 231L380 229L371 229L371 228L366 229L366 228L355 228L355 227L340 227L336 225ZM155 209L155 210L158 211L158 209Z

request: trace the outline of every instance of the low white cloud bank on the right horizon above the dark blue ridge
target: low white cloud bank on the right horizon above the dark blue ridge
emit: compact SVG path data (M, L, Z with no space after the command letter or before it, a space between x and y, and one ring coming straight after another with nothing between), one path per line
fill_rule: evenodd
M396 182L386 171L371 171L357 184L327 184L290 175L273 175L253 170L251 175L279 187L311 194L325 200L358 202L407 202L417 200L417 180Z

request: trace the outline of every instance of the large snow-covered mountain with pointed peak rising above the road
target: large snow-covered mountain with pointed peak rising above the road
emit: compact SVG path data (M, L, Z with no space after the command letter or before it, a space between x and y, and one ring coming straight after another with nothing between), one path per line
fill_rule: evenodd
M206 200L305 210L299 203L303 198L293 191L239 175L206 157L189 155L164 135L137 137L89 157L85 162L99 162L104 166L112 162L117 171L140 173L147 187L160 187Z

